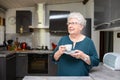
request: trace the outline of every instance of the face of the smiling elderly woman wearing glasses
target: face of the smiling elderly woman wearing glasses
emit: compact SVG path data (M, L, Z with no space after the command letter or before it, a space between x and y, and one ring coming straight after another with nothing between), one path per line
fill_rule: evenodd
M71 34L80 34L83 29L83 26L78 22L77 19L69 19L68 23L68 33Z

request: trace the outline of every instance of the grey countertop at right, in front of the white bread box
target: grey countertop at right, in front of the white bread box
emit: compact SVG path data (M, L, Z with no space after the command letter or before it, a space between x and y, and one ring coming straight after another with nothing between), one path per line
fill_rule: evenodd
M100 63L98 67L93 67L90 76L94 80L120 80L120 71L114 71Z

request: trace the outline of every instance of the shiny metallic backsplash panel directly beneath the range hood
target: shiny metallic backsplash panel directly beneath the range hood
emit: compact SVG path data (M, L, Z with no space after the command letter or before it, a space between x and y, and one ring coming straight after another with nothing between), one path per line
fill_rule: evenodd
M41 47L41 46L48 46L50 47L50 33L48 29L34 29L33 33L33 46L34 47Z

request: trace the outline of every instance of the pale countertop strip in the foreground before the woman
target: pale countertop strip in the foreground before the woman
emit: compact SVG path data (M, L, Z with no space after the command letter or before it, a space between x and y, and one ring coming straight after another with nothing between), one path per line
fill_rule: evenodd
M88 77L25 76L23 80L93 80L93 79L90 76Z

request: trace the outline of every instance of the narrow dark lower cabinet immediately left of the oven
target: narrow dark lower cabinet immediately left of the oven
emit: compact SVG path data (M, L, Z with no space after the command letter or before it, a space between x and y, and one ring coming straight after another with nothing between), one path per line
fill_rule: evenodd
M27 75L28 56L26 53L16 54L16 77L22 78Z

